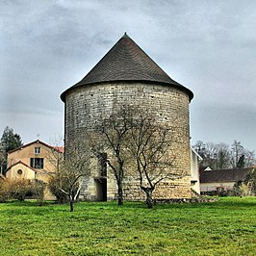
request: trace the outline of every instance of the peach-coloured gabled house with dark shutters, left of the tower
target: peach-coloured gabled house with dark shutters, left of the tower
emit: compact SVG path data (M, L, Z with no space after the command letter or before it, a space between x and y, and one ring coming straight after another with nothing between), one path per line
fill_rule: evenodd
M47 184L56 169L58 159L64 155L64 147L54 147L42 141L32 141L8 152L8 179L41 180ZM45 196L51 193L46 189Z

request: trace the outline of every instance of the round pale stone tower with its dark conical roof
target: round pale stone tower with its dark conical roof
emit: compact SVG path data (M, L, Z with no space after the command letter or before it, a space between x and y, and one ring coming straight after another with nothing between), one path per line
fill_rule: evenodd
M65 145L79 139L84 130L100 122L123 105L135 105L155 115L158 121L172 131L174 168L186 172L176 181L162 182L155 198L191 197L191 149L189 104L192 91L173 81L141 48L126 34L73 87L65 90L64 138ZM127 183L128 184L128 183ZM97 184L95 175L85 185L85 198L115 198L115 180L108 172L105 185ZM104 192L103 192L104 191ZM128 184L126 199L141 199L136 184Z

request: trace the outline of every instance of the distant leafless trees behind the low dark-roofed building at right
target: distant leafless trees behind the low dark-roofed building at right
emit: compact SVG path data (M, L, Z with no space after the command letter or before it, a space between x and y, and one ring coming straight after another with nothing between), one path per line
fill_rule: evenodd
M231 145L223 142L196 141L192 148L202 157L202 168L244 168L255 165L254 151L244 148L241 141L234 141Z

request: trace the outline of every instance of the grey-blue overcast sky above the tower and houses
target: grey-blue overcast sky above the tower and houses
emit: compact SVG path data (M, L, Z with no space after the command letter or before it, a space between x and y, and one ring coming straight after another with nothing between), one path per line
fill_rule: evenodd
M64 133L60 94L124 32L194 93L195 141L256 149L256 1L1 0L0 136Z

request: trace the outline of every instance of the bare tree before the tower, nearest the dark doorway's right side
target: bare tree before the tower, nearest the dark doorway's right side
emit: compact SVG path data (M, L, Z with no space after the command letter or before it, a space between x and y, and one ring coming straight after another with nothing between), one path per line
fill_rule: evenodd
M96 127L96 132L100 135L101 140L94 144L93 151L98 159L106 161L114 172L118 205L123 204L124 165L127 160L125 141L130 130L130 118L129 108L123 106L109 117L102 118L102 122ZM102 154L102 151L107 154ZM106 159L103 159L102 156L105 156Z

